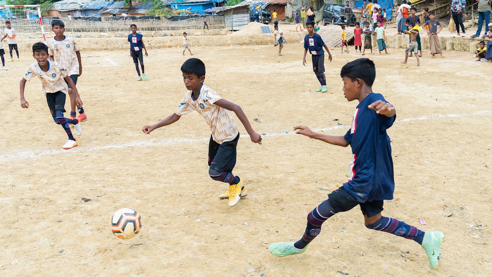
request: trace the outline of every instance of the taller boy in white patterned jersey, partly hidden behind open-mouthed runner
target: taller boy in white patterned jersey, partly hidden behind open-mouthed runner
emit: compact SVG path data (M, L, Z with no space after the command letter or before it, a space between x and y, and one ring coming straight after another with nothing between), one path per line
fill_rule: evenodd
M50 61L56 59L57 63L68 71L68 76L72 79L73 83L77 85L77 79L82 75L82 61L79 47L73 37L63 35L65 24L61 20L53 20L51 22L51 30L55 33L55 37L48 40ZM68 96L70 97L70 118L75 119L77 116L76 111L78 111L82 121L86 121L87 115L84 107L82 107L82 104L80 106L76 105L77 102L82 103L80 95L72 89L70 84L68 84Z

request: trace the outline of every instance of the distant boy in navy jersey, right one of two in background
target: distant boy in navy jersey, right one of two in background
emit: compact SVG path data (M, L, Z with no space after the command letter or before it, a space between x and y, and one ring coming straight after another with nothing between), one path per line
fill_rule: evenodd
M327 92L328 87L326 86L325 76L325 51L323 51L323 47L325 47L326 52L328 52L328 60L330 63L332 62L332 54L323 39L321 39L321 36L314 34L314 22L308 21L306 23L306 30L307 35L304 37L303 65L306 66L306 54L309 50L312 60L312 69L321 84L321 87L319 87L316 91Z

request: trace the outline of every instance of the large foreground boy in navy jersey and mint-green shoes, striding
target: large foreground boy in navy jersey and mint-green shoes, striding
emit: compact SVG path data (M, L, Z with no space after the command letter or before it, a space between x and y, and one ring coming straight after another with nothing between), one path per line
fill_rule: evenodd
M425 233L403 221L381 215L383 200L393 199L395 189L390 138L386 130L395 122L396 109L381 94L372 92L372 83L376 77L374 63L364 58L355 60L343 66L340 76L345 98L348 101L359 101L352 125L345 136L314 133L306 126L296 126L294 130L297 130L296 134L330 144L343 147L350 145L352 161L349 179L330 193L328 200L308 213L306 231L299 241L275 242L269 250L279 257L303 253L307 244L319 235L321 225L328 218L359 205L367 228L421 244L429 257L431 268L435 268L443 233Z

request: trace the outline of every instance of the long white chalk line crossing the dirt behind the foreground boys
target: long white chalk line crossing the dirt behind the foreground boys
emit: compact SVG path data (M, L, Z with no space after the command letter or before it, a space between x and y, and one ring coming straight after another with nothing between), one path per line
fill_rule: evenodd
M422 117L415 117L415 118L404 118L401 120L397 120L397 122L407 122L407 121L419 121L419 120L427 120L427 119L432 119L432 118L442 118L442 117L458 117L458 116L467 116L467 115L479 115L479 114L485 114L491 112L490 110L481 110L481 111L476 111L472 113L462 113L462 114L433 114L433 115L428 115L428 116L422 116ZM337 126L332 126L328 128L321 128L321 129L316 129L314 131L319 132L321 130L323 131L330 131L330 130L336 130L336 129L346 129L349 128L350 126L348 125L337 125ZM292 135L295 134L294 132L282 132L282 133L273 133L273 134L267 134L267 135L262 135L263 138L270 138L270 137L281 137L285 135ZM242 135L241 138L247 138L248 135ZM84 151L94 151L94 150L105 150L105 149L112 149L112 148L124 148L124 147L146 147L146 146L162 146L162 145L168 145L168 144L176 144L180 142L188 142L189 144L193 142L201 142L201 141L208 141L210 138L174 138L174 139L168 139L168 140L162 140L162 141L156 141L156 140L146 140L146 141L133 141L133 142L128 142L128 143L123 143L123 144L106 144L106 145L101 145L101 146L91 146L89 148L73 148L71 150L62 150L62 149L56 149L56 150L44 150L44 151L20 151L16 152L15 154L5 154L2 153L0 155L0 160L11 160L11 159L20 159L20 158L38 158L41 156L45 155L57 155L61 153L74 153L74 152L84 152Z

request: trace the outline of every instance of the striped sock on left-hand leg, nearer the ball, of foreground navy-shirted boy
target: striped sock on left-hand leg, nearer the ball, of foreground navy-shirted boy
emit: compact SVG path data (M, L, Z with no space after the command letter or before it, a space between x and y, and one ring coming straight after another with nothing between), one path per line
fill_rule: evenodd
M304 232L302 239L294 243L294 247L297 249L303 249L306 247L309 242L314 240L314 238L319 235L321 232L321 225L336 213L337 212L330 204L330 200L326 200L309 212L307 214L306 231Z

